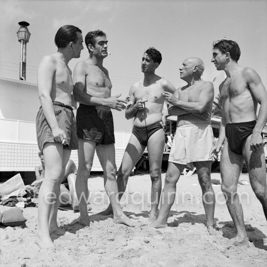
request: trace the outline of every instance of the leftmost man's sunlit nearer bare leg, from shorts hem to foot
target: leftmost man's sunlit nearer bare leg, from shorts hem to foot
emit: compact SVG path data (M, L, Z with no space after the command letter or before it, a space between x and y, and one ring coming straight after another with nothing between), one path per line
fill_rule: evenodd
M56 203L56 193L59 190L63 176L63 146L60 143L46 143L43 149L46 172L38 198L39 232L35 243L40 249L54 248L50 238L50 212ZM65 167L65 166L64 166Z

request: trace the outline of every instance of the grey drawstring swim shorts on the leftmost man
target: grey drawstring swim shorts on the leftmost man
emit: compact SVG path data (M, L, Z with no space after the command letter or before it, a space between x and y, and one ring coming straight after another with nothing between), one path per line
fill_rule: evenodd
M63 145L63 148L70 150L78 149L76 121L72 107L61 102L53 101L53 108L59 128L67 135L66 145ZM46 120L42 107L40 107L36 117L36 135L38 147L41 152L43 152L46 142L55 143L52 130Z

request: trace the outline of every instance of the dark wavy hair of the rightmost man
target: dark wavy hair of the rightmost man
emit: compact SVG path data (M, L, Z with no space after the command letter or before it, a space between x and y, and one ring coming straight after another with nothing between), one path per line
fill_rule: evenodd
M240 58L241 51L235 41L222 39L220 41L213 42L213 48L217 48L222 54L229 52L231 58L236 62Z

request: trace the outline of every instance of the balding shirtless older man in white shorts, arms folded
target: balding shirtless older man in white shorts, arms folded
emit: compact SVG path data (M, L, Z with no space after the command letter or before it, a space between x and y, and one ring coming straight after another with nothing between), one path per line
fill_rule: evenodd
M164 92L165 100L173 105L164 117L177 115L177 129L169 153L159 216L149 227L167 227L167 217L175 199L176 184L184 167L194 163L202 189L208 232L216 234L215 195L210 179L212 161L209 156L213 146L211 112L214 89L212 83L200 79L203 71L204 64L201 59L185 59L180 67L180 78L187 82L187 85L178 88L174 95ZM203 112L205 114L202 114Z

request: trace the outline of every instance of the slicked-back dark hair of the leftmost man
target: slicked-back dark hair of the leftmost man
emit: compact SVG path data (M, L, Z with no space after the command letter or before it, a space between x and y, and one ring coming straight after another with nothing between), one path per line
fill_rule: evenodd
M82 33L82 31L73 25L60 27L55 36L56 46L58 48L65 48L69 42L76 43L78 40L77 33Z

